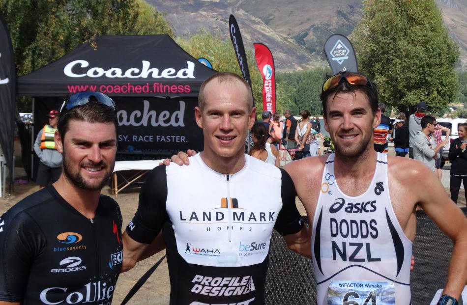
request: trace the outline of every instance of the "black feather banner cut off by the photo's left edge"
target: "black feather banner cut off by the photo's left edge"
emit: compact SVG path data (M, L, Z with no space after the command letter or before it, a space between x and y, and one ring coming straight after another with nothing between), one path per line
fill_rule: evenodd
M15 62L8 29L0 16L0 146L13 179L13 138L15 132Z

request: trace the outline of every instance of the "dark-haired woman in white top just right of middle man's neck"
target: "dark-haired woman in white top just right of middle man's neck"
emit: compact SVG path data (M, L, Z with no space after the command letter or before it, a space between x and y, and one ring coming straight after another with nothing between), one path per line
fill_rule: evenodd
M267 136L267 130L262 122L256 122L251 128L254 145L248 154L266 163L279 166L279 151L267 142Z

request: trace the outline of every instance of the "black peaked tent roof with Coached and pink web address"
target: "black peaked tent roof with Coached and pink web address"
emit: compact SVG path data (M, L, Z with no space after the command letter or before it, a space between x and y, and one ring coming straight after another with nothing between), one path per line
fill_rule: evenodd
M93 47L94 46L94 47ZM110 96L198 96L215 71L187 54L167 34L102 35L18 78L18 95L63 97L79 91Z

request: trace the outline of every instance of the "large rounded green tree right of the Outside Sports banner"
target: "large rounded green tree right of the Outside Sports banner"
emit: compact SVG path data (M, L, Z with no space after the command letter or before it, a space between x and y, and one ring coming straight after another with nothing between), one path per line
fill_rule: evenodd
M459 47L434 0L364 0L353 32L360 70L378 84L379 100L409 115L419 102L443 111L458 94Z

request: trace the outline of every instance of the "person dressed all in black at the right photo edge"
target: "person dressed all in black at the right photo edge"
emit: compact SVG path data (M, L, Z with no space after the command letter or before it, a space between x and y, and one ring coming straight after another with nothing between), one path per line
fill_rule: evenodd
M449 160L451 160L449 190L451 191L451 200L456 203L461 182L464 184L464 189L467 190L467 123L459 124L457 132L459 138L454 139L449 146Z

